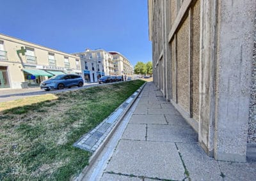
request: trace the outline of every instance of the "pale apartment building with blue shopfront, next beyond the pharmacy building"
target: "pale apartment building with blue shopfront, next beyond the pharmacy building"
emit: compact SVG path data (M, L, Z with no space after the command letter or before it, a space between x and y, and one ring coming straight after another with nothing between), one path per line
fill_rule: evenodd
M86 82L97 82L100 76L114 75L113 56L105 50L90 50L74 53L81 58L81 68Z

